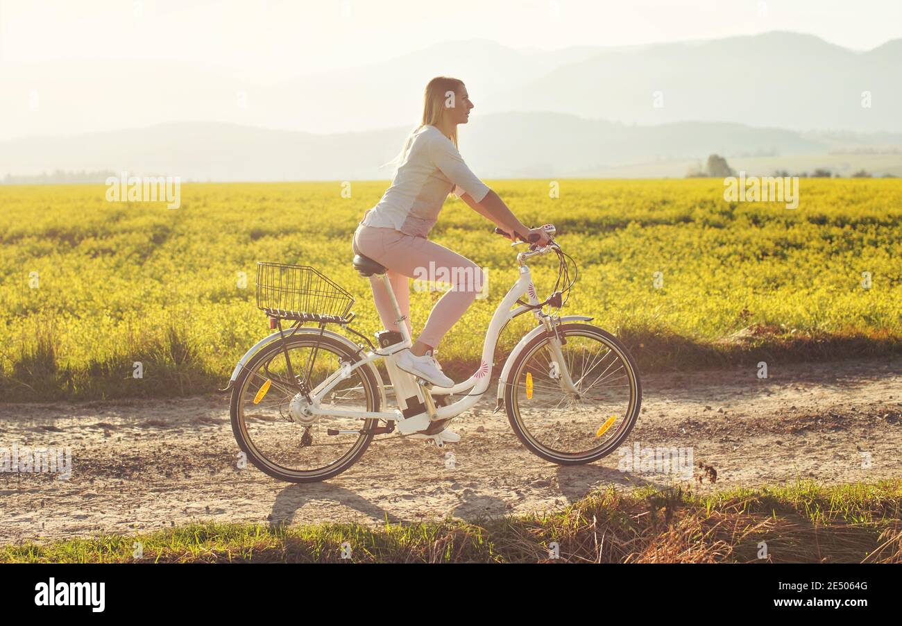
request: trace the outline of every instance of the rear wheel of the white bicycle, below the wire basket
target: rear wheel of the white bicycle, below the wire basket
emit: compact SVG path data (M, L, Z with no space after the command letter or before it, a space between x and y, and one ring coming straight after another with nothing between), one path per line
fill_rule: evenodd
M235 380L231 402L232 430L248 460L290 483L323 481L354 465L373 440L371 433L358 431L372 429L378 420L308 417L297 408L306 406L307 392L360 358L331 337L306 335L275 341L255 354ZM347 373L321 406L378 411L379 400L375 377L364 366ZM328 435L328 429L349 432Z

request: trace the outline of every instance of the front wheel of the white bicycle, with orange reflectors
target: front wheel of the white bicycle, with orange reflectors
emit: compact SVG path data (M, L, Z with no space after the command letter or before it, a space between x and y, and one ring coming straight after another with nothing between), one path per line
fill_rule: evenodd
M531 452L558 465L591 463L635 425L639 373L626 347L601 328L564 324L558 332L560 355L545 334L523 348L505 381L504 405Z

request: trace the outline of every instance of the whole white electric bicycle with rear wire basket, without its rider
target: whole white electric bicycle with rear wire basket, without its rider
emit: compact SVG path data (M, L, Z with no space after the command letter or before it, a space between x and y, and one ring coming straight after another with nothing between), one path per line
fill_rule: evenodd
M274 478L307 483L344 472L373 437L419 435L442 446L437 434L448 420L488 392L502 329L525 313L534 315L537 326L505 360L495 410L503 406L522 444L552 463L591 463L611 454L639 416L639 373L616 337L586 323L592 318L559 315L575 282L575 262L554 241L554 226L544 228L548 245L530 244L517 254L520 277L492 315L481 364L450 388L394 364L395 355L413 342L379 263L354 257L362 276L383 281L399 321L400 332L376 333L378 345L349 326L354 298L335 282L308 266L258 263L257 306L275 332L244 354L224 390L232 392L232 428L247 458ZM560 264L557 281L552 295L539 301L526 262L550 253ZM282 327L285 320L290 327ZM308 322L315 326L304 326ZM397 408L390 408L379 361Z

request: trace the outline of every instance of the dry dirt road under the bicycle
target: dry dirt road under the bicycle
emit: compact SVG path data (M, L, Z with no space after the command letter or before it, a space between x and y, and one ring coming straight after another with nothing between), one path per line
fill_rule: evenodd
M700 488L902 476L902 363L886 359L643 377L622 446L691 448L717 472ZM492 390L494 385L492 385ZM0 541L150 531L189 521L360 521L550 511L607 484L699 483L622 471L620 450L558 467L513 435L494 398L456 419L439 450L375 440L328 483L278 483L238 469L226 397L0 405L0 448L71 448L71 475L0 473ZM621 448L621 449L622 449ZM453 453L452 457L448 453ZM3 450L0 450L2 463Z

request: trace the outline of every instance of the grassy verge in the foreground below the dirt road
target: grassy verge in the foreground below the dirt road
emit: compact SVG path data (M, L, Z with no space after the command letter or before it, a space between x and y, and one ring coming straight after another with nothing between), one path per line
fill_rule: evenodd
M0 563L902 562L902 481L704 494L608 488L563 511L465 523L194 524L0 547ZM134 557L135 542L143 555ZM346 554L346 552L345 552Z

